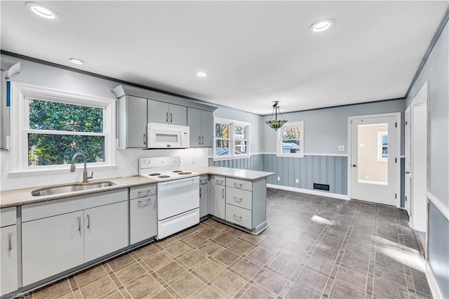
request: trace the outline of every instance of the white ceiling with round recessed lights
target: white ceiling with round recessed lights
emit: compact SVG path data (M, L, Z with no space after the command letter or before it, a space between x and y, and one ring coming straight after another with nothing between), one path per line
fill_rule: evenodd
M448 1L1 1L1 50L256 114L403 98ZM323 18L326 32L309 27ZM69 58L80 58L81 66ZM196 77L196 72L208 77Z

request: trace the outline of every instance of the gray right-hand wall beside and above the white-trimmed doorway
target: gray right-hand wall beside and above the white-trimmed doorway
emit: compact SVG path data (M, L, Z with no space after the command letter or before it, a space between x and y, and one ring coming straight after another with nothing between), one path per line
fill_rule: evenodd
M448 12L447 12L448 13ZM407 106L429 81L427 191L432 195L428 211L429 264L443 298L449 298L449 28L445 25L420 76L410 90ZM441 206L439 210L437 206Z

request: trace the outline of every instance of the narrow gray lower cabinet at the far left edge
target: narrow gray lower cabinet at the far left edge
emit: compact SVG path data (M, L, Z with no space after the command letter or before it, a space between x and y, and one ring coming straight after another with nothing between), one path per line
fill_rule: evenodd
M0 212L0 294L18 288L18 243L15 207L2 208Z

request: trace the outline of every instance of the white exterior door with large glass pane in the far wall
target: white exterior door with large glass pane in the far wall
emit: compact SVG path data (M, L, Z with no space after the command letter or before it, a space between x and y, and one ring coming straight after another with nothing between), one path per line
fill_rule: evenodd
M351 117L351 198L398 206L400 114Z

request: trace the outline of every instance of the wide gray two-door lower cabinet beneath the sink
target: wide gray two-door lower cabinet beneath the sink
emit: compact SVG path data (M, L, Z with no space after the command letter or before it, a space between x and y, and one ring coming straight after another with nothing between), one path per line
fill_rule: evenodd
M22 206L22 285L128 246L128 189Z

